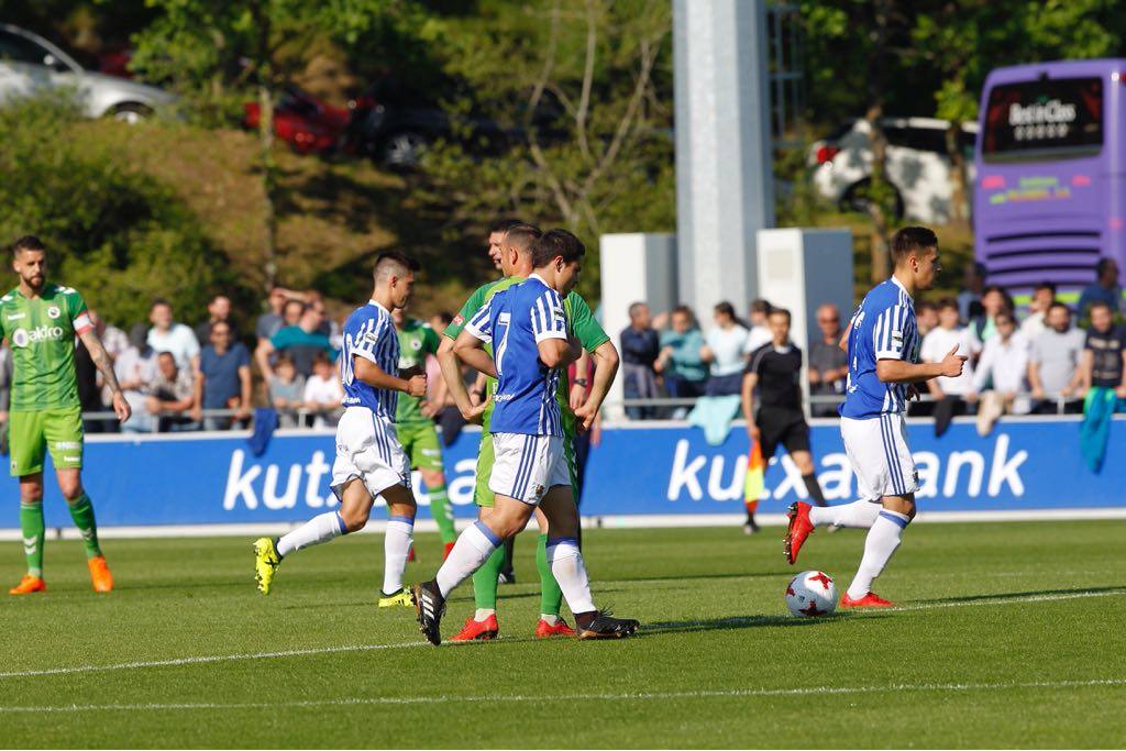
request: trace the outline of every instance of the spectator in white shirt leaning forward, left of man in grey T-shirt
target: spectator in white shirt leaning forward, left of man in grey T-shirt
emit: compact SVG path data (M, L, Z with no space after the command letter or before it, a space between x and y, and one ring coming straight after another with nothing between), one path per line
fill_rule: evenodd
M1012 313L1002 311L993 319L995 334L982 347L982 357L974 370L972 401L981 400L977 409L977 432L988 435L1006 412L1028 411L1025 377L1028 374L1028 342L1017 331Z

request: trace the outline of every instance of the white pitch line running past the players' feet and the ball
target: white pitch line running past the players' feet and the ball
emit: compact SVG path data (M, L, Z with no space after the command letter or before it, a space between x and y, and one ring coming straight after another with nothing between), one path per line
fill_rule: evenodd
M896 606L894 608L877 608L872 610L863 611L851 611L849 615L851 617L866 616L866 615L878 615L881 613L895 613L895 611L906 611L906 610L931 610L936 608L959 608L959 607L975 607L975 606L986 606L986 605L1021 605L1026 602L1053 602L1056 600L1074 600L1081 598L1090 597L1119 597L1126 594L1126 588L1109 590L1105 592L1072 592L1062 594L1031 594L1028 597L1013 597L1006 598L1003 596L997 596L994 598L983 598L980 600L965 600L955 602L926 602L920 605L905 605ZM749 616L749 617L734 617L725 618L725 623L753 623L759 620L762 616ZM692 625L705 626L707 622L696 622L686 623L685 627L691 627ZM644 626L643 626L644 628ZM660 631L651 632L653 634L661 633ZM213 662L235 662L240 660L271 660L277 658L297 658L306 656L313 654L332 654L337 652L374 652L377 650L396 650L406 649L415 646L426 646L426 642L406 642L401 644L359 644L352 646L321 646L311 647L306 650L285 650L280 652L253 652L243 654L214 654L214 655L203 655L193 658L173 658L170 660L149 660L149 661L136 661L136 662L120 662L107 665L74 665L69 668L46 668L42 670L16 670L11 672L0 672L0 679L2 678L36 678L42 676L66 676L71 673L86 673L86 672L101 672L110 670L136 670L141 668L173 668L178 665L195 665L195 664L206 664ZM224 705L229 706L229 705Z

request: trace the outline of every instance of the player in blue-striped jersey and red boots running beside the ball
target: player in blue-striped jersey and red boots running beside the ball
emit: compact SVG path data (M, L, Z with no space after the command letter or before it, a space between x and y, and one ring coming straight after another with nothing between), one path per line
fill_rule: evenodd
M860 500L825 508L798 501L788 513L785 552L790 563L814 527L868 529L860 566L841 598L847 608L892 605L872 591L872 582L887 565L915 515L919 473L906 440L908 401L918 384L962 375L966 361L955 347L941 363L919 363L914 295L933 287L942 268L938 238L926 227L903 227L892 238L892 278L865 295L841 339L849 366L840 406L841 437Z

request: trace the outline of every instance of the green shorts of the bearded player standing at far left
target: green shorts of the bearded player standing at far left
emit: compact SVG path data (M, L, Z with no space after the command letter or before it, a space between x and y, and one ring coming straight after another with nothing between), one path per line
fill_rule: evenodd
M43 472L43 458L48 450L56 470L81 470L81 409L12 412L8 420L8 448L14 477Z

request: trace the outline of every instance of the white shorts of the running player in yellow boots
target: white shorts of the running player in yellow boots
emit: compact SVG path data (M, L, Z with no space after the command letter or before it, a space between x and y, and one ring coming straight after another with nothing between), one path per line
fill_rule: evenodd
M349 406L337 423L337 459L332 463L337 498L354 479L361 480L373 498L392 485L411 486L411 465L399 445L395 423L366 406Z

